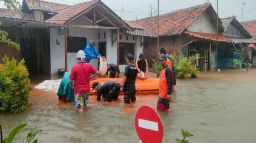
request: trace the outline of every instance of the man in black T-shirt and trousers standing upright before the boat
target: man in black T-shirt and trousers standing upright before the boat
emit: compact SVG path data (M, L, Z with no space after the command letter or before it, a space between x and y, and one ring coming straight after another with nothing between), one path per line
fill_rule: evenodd
M123 102L126 104L130 104L130 100L132 102L136 101L135 93L135 81L136 76L138 74L138 70L134 63L134 58L132 54L127 54L126 56L127 66L125 67L125 72L123 73Z

